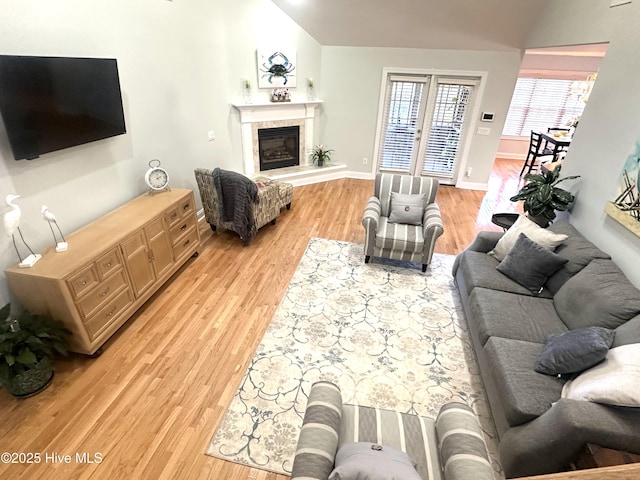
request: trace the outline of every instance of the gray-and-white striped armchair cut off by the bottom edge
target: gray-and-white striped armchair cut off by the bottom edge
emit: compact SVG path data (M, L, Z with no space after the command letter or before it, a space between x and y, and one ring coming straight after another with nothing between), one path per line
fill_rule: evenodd
M422 480L494 479L482 429L467 405L447 403L434 420L343 405L337 385L317 382L309 393L291 480L327 480L340 447L354 442L405 452Z

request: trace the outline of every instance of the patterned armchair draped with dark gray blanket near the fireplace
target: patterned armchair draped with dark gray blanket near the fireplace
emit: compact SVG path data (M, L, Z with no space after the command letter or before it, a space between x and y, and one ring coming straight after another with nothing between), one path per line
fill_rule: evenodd
M196 183L211 229L236 232L245 245L259 228L275 223L283 207L291 208L293 186L268 177L246 177L216 168L195 169Z

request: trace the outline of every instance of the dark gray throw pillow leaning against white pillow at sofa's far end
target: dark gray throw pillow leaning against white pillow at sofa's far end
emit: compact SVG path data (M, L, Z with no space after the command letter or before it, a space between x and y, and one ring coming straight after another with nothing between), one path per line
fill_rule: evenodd
M565 263L566 258L541 247L521 233L496 268L533 295L537 295L542 291L547 279Z

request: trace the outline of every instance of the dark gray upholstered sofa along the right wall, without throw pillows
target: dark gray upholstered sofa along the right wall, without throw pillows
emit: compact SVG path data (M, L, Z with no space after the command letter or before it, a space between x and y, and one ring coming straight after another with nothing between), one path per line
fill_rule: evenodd
M583 327L640 348L640 291L569 223L547 231L567 235L554 250L567 262L541 291L498 271L501 232L481 232L453 267L507 478L565 470L587 443L640 453L640 408L561 398L571 376L534 370L549 336Z

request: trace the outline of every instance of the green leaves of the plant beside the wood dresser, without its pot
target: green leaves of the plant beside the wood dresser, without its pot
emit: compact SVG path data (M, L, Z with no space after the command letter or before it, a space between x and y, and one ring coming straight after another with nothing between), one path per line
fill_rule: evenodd
M10 304L0 309L0 379L28 371L43 358L67 354L71 332L58 320L24 311L9 319Z

